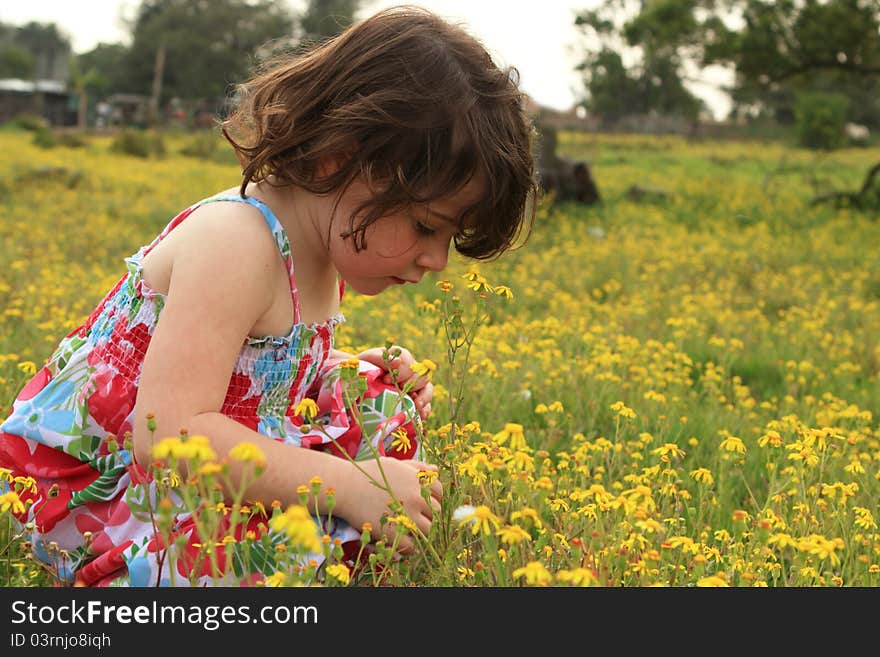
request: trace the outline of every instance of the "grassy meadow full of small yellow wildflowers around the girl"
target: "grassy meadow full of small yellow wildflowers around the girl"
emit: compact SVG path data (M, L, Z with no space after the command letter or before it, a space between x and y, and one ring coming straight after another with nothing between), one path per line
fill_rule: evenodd
M224 146L163 139L138 158L0 131L3 416L123 258L238 181ZM880 584L880 221L810 204L858 189L880 149L559 143L601 204L545 201L497 261L343 300L339 348L392 340L437 365L424 440L446 493L424 549L266 584ZM44 585L11 508L0 584Z

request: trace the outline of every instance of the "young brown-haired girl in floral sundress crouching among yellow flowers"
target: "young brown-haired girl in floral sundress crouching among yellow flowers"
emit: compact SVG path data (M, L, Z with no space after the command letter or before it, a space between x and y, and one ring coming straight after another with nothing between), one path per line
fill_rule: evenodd
M246 499L266 508L298 503L297 487L320 477L336 500L332 521L316 522L344 545L359 544L364 523L379 537L389 495L340 450L374 477L381 462L428 534L442 488L435 481L430 503L421 497L417 472L436 468L419 460L415 425L430 413L432 385L401 348L390 361L398 384L412 386L401 403L383 350L357 354L368 388L355 422L331 375L352 357L333 349L333 329L345 286L375 295L418 283L446 266L451 243L490 258L528 225L530 128L511 72L461 28L397 8L239 89L222 128L240 186L186 208L127 258L127 273L0 425L6 480L36 481L19 520L62 580L187 583L182 565L173 581L157 565L152 524L129 506L153 485L144 483L151 441L182 429L210 437L221 458L259 445L267 466ZM320 432L303 430L295 409L306 398ZM401 427L409 447L386 452ZM373 458L369 445L385 455ZM327 511L323 493L312 502ZM175 531L190 547L199 541L182 511ZM56 546L64 560L47 554ZM404 537L401 551L412 548ZM270 572L227 573L223 583Z

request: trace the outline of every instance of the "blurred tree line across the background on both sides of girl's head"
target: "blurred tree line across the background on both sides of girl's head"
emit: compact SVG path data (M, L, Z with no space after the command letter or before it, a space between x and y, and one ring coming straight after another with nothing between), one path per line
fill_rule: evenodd
M128 44L76 55L55 24L0 23L0 78L46 77L67 57L69 86L91 99L216 109L260 61L338 33L370 4L310 0L296 14L284 0L142 0ZM733 71L731 118L792 124L832 112L880 129L880 0L602 0L575 24L579 104L603 126L646 114L697 121L705 107L689 83L722 66Z

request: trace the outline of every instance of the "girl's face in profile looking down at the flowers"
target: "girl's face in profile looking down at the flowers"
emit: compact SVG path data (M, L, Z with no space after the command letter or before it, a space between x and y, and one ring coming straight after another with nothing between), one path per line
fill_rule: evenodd
M448 199L381 217L367 227L366 248L359 252L353 238L339 235L336 224L330 233L330 259L345 284L361 294L418 283L426 271L446 267L450 244L459 230L456 218L480 192L479 186L468 183ZM348 217L367 193L365 185L353 183L340 200L337 217Z

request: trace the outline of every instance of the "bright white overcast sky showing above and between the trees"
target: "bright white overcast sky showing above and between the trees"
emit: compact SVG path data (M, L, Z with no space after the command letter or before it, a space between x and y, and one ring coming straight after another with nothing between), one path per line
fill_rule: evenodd
M489 49L499 64L515 66L521 87L538 103L569 109L581 94L574 67L584 41L574 27L577 11L599 0L414 0L438 14L463 23ZM0 22L55 22L71 38L74 52L91 50L100 42L125 42L122 16L132 15L138 0L0 0ZM306 0L289 0L302 9ZM402 4L395 0L362 0L364 12ZM711 87L694 88L714 108L716 116L727 103Z

